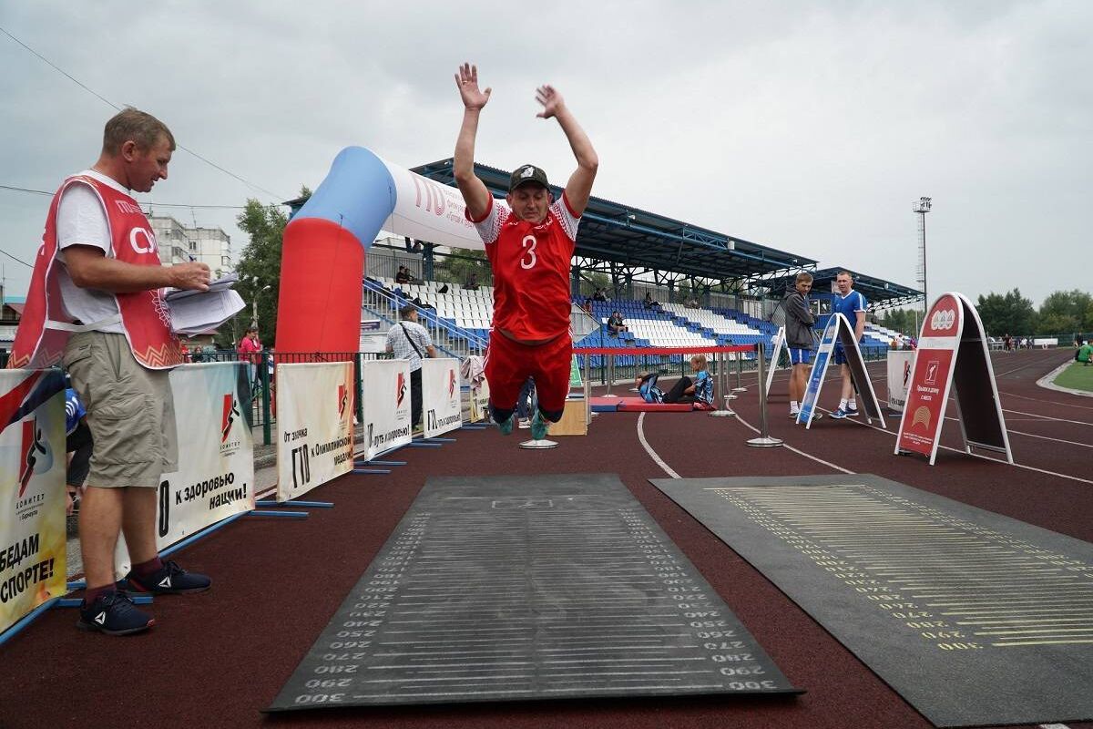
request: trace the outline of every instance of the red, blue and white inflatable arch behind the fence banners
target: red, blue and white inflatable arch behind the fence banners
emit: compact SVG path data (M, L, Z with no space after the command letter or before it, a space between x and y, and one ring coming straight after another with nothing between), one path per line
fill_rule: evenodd
M284 230L278 352L356 352L365 256L379 231L482 248L462 196L362 146L342 150Z

